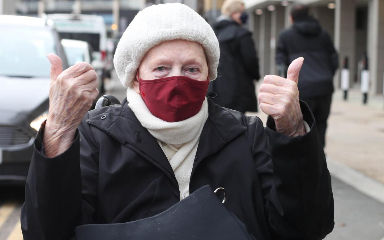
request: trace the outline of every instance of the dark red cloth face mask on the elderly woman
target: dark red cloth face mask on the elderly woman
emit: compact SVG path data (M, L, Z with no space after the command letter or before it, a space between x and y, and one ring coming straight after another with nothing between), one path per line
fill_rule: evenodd
M179 122L194 116L207 95L209 81L185 76L143 80L138 77L140 94L151 113L166 121Z

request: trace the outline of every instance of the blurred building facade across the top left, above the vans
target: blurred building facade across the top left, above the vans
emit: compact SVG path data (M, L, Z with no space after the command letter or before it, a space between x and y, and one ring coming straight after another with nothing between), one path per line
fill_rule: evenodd
M223 0L218 0L220 6ZM134 16L152 4L179 2L203 15L204 0L0 0L0 14L41 16L76 13L103 16L109 37L119 37ZM112 28L117 25L117 28Z

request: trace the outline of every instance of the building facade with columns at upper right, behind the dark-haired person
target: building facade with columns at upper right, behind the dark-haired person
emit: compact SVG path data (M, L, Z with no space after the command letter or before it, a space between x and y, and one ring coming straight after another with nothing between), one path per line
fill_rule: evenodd
M277 74L275 46L279 33L290 27L290 10L294 1L244 0L250 15L248 28L260 58L262 76ZM384 0L301 0L334 40L340 66L348 58L350 87L359 88L362 59L367 56L370 94L383 94L384 82ZM340 87L340 71L334 77Z

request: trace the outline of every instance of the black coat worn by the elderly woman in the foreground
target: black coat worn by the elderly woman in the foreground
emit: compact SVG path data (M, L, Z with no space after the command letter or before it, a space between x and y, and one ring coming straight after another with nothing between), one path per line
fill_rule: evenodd
M320 239L333 229L323 146L301 104L311 130L289 138L273 130L271 119L264 128L259 118L209 100L190 192L224 187L225 206L257 240ZM55 158L42 154L43 132L42 126L26 182L25 240L67 240L78 225L142 219L179 202L169 161L126 100L88 112L70 148Z

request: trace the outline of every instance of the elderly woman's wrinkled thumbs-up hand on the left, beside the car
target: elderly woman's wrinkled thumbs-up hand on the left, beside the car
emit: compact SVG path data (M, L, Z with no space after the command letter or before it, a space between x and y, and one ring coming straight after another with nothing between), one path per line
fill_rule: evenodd
M97 75L90 64L79 62L63 71L57 55L48 54L47 58L51 62L50 107L43 141L46 156L53 157L70 146L99 91Z

